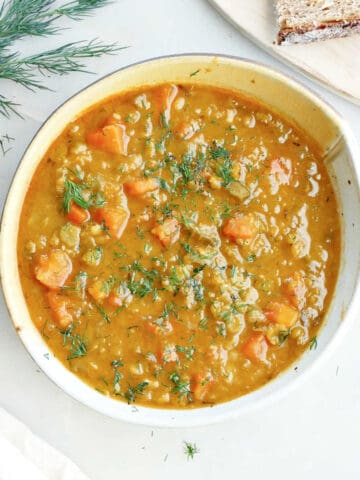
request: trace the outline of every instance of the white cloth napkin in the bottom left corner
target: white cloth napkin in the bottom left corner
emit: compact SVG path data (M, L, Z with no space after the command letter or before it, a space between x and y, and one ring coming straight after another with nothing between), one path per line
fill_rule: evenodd
M55 448L0 408L0 480L89 480Z

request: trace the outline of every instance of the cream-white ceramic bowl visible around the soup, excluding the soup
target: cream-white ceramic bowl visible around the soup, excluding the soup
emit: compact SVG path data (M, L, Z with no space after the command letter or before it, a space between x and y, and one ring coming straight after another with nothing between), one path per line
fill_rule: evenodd
M199 73L190 76L196 70ZM323 153L331 157L328 169L342 213L339 280L317 350L305 353L296 365L259 390L211 408L134 407L105 397L87 386L48 351L30 319L17 268L16 243L22 203L34 171L53 140L70 120L92 104L124 90L161 82L209 84L238 91L257 98L296 122L317 140ZM264 65L233 57L181 55L135 64L108 75L72 97L44 123L29 145L9 191L1 227L1 276L9 312L21 340L39 367L60 388L85 405L121 420L158 426L193 426L231 418L255 407L266 407L299 383L300 378L304 379L321 358L331 354L359 311L360 177L355 161L359 158L348 125L332 108L301 84Z

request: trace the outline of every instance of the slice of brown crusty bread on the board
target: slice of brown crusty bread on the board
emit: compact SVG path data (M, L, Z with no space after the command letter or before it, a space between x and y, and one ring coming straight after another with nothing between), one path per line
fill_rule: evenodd
M360 33L360 0L275 0L278 43L310 43Z

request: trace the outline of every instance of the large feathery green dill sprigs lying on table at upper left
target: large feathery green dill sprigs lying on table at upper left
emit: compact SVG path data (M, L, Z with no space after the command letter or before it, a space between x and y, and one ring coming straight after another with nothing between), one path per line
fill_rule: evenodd
M0 0L1 2L1 0ZM71 0L55 8L56 0L9 0L0 5L0 79L18 83L30 90L48 89L39 74L65 75L86 72L82 59L113 54L117 44L104 44L97 39L72 42L60 47L22 57L12 52L12 44L29 36L46 37L62 29L55 22L60 17L81 20L95 9L111 3L110 0ZM54 6L54 8L52 8ZM18 105L0 94L0 115L17 114Z

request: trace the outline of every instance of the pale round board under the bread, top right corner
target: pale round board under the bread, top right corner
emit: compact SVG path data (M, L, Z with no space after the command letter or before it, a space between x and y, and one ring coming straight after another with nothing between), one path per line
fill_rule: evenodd
M240 31L271 55L360 105L360 35L304 45L277 45L272 0L209 0Z

